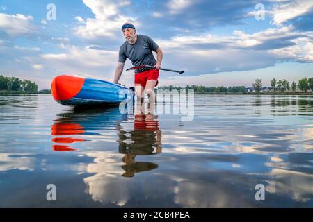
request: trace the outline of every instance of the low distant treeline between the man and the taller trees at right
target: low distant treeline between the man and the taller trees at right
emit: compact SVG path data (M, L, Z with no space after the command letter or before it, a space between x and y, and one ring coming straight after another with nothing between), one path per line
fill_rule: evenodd
M175 87L173 85L158 87L158 89L162 90L172 90L172 89L193 89L193 91L197 94L201 93L244 93L246 92L246 87L244 86L234 86L234 87L205 87L203 85L187 85L186 87Z

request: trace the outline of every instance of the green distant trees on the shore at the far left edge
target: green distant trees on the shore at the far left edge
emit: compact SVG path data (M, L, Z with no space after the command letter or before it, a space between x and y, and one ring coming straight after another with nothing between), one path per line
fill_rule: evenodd
M38 85L30 80L19 80L19 78L1 75L0 91L35 93L38 92Z

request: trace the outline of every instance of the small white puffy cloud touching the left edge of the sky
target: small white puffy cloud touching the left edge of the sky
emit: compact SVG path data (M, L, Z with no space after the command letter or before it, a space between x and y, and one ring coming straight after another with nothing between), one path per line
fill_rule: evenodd
M11 36L30 35L36 31L36 27L31 24L31 21L33 21L32 16L0 13L0 30Z

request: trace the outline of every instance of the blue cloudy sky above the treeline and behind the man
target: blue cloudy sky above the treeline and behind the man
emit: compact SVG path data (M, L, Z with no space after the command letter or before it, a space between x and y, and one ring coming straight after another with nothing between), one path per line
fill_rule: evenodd
M185 71L161 71L160 86L313 77L312 0L0 0L0 75L40 89L62 74L112 81L125 22L157 42L162 67Z

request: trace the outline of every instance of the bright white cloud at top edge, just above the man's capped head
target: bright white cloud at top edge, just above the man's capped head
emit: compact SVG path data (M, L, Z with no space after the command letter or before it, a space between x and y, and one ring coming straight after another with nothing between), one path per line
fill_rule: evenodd
M120 32L122 24L136 20L134 17L122 15L119 10L120 7L129 5L129 1L83 0L83 3L91 9L95 18L86 19L86 24L77 27L74 31L87 39L114 37Z

